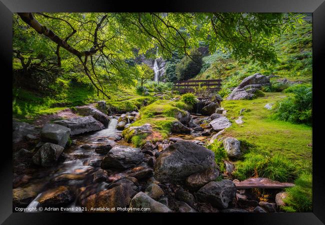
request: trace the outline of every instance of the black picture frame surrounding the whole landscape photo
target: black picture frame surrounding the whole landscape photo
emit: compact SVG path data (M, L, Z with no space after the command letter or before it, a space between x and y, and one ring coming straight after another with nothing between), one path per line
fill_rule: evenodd
M123 224L129 222L167 223L175 216L185 222L215 222L221 220L240 224L323 224L325 223L325 178L323 168L323 151L321 128L323 111L321 106L322 85L321 78L325 65L325 2L324 0L164 0L156 4L138 1L111 0L1 0L0 2L0 63L1 63L1 96L2 96L2 124L4 131L1 146L0 170L0 222L1 224L59 224L62 222L84 223L102 221ZM9 127L12 102L9 85L12 79L12 13L13 12L134 12L134 11L218 11L218 12L312 12L313 14L313 210L306 213L145 213L145 214L110 214L110 213L22 213L12 212L12 155ZM5 81L5 78L8 78ZM319 102L318 102L319 101ZM7 105L6 105L7 104ZM6 138L6 136L8 136ZM5 144L6 143L6 144ZM70 220L68 220L68 218ZM71 220L72 219L72 220ZM226 222L223 221L223 222Z

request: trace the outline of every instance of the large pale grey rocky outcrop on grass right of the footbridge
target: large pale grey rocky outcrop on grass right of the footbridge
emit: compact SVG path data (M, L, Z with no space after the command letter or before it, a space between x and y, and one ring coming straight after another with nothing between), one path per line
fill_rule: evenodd
M241 83L232 90L227 97L227 100L240 100L240 99L252 99L255 97L254 93L262 86L269 86L270 81L267 76L260 73L247 76Z

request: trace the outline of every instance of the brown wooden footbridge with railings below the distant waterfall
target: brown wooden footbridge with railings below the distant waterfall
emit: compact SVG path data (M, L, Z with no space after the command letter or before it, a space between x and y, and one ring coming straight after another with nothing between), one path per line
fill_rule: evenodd
M221 89L221 79L196 79L196 80L177 80L174 81L174 90L179 93L193 92L195 87L206 86L211 92Z

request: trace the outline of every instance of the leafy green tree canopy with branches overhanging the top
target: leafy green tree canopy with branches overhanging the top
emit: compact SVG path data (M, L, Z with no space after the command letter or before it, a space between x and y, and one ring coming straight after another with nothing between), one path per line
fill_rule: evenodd
M237 59L248 58L262 66L276 63L274 38L294 28L302 18L296 13L17 14L13 52L22 66L40 56L62 68L66 60L73 61L106 97L105 86L132 84L142 73L136 71L141 67L130 65L127 59L142 53L157 57L152 53L156 47L158 56L164 58L185 54L195 61L191 49L203 44L212 53L222 49ZM35 37L34 31L42 35ZM24 54L30 54L34 45L38 52L25 62Z

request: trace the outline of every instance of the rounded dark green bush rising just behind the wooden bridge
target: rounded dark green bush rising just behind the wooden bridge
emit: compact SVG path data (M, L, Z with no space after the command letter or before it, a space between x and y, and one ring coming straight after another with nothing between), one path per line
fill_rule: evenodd
M202 54L194 48L189 56L185 55L175 66L178 80L186 80L197 75L202 67Z

